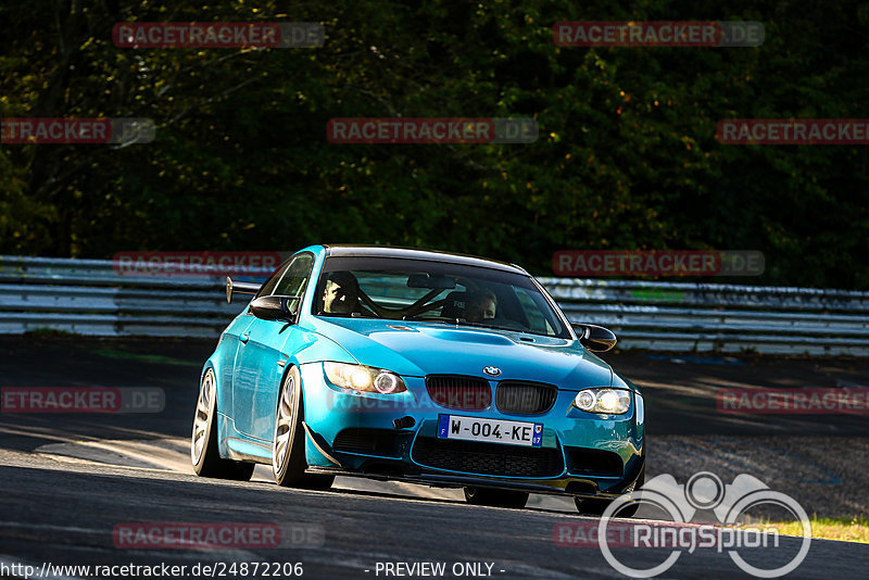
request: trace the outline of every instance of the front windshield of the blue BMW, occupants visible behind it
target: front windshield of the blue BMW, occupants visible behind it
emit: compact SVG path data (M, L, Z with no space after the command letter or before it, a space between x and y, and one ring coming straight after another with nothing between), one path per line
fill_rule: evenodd
M401 259L330 257L313 314L429 320L570 338L533 281L489 268Z

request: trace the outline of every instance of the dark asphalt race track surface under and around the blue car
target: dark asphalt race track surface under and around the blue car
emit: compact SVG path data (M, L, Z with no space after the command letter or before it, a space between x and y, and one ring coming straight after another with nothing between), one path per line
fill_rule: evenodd
M212 346L211 342L0 339L2 387L160 387L166 393L166 408L160 414L0 415L0 570L7 566L4 577L23 577L10 573L11 564L29 564L37 570L43 563L166 564L189 569L197 563L234 562L302 563L304 578L431 577L377 573L378 563L445 563L445 578L457 577L453 566L464 567L465 563L481 564L480 573L467 573L475 568L465 568L461 576L465 578L622 577L596 546L565 542L564 537L558 541L556 526L596 524L564 504L537 502L524 510L477 507L454 495L357 486L357 480L342 481L329 491L289 490L265 478L244 483L200 479L182 468L159 465L160 458L150 466L148 461L137 463L130 458L135 454L117 453L117 461L112 461L115 455L104 452L95 461L61 451L70 445L99 447L104 442L127 441L135 446L133 442L150 441L151 447L142 447L146 456L140 457L148 459L149 453L158 456L163 449L155 442L168 441L166 456L177 456L172 442L182 442L189 434L199 370ZM865 416L777 417L773 424L769 417L715 414L709 395L715 386L867 384L869 364L865 362L673 360L642 354L617 354L607 360L646 390L653 436L676 440L817 436L841 442L842 449L865 444L869 437ZM859 491L852 493L855 501L864 502L859 505L865 505L869 483L864 474L839 474L840 480L862 491L859 497ZM282 529L307 526L323 537L322 542L306 547L143 550L115 545L112 531L118 525L155 521L260 522ZM759 551L754 562L766 567L783 564L798 543L799 539L782 538L780 549ZM666 550L633 550L625 562L652 566L667 554ZM814 540L807 558L789 577L862 578L868 568L869 546ZM33 577L40 576L37 571ZM227 572L225 577L243 576ZM697 577L748 576L726 552L700 549L681 554L662 576Z

